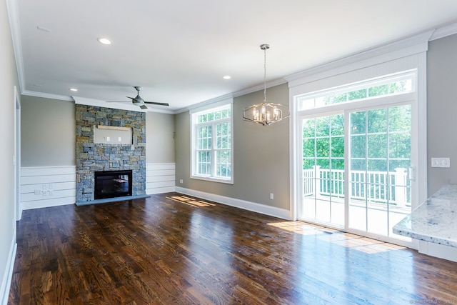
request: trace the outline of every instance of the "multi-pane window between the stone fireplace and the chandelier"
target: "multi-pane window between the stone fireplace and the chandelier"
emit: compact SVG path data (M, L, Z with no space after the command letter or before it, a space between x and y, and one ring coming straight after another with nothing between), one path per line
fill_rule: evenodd
M231 105L191 113L191 178L233 182Z

